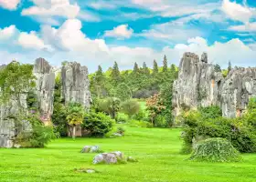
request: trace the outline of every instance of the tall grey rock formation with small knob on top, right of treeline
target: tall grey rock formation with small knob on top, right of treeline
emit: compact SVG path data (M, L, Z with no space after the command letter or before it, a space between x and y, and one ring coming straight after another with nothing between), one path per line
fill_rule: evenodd
M207 57L205 54L202 57ZM182 109L198 106L219 105L219 86L221 73L214 66L199 61L193 53L185 53L179 66L178 79L174 83L173 107L175 116Z

